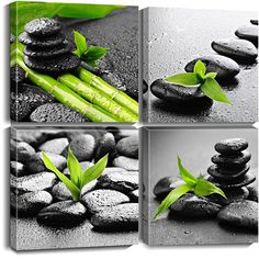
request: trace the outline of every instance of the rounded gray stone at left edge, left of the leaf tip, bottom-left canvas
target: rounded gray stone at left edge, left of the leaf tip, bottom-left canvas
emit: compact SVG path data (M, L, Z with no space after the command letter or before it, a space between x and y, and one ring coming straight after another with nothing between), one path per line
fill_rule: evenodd
M27 161L34 154L35 149L25 142L10 142L11 159L20 162Z

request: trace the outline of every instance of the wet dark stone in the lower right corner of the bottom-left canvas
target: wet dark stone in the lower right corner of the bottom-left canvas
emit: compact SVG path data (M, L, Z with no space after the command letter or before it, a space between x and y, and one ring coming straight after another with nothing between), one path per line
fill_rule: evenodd
M91 224L100 230L137 230L138 204L126 203L111 206L93 215Z

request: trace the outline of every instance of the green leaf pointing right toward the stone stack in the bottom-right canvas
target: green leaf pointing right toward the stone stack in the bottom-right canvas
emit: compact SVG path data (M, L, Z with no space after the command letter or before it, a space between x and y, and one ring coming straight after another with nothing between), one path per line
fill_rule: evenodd
M217 188L212 182L206 181L203 177L199 177L196 185L194 188L194 194L200 196L206 196L213 193L217 193L227 199L222 189Z

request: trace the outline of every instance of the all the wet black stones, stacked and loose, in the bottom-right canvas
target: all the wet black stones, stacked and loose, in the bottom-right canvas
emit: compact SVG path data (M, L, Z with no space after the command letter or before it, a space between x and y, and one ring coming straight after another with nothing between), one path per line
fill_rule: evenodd
M207 169L206 179L219 187L227 200L218 194L198 196L193 192L182 195L170 206L169 218L203 219L216 217L222 226L257 232L258 188L254 184L256 170L249 171L251 155L244 138L224 139L215 145L219 155L212 157L215 164ZM154 187L154 194L161 201L171 190L184 184L177 177L165 177Z

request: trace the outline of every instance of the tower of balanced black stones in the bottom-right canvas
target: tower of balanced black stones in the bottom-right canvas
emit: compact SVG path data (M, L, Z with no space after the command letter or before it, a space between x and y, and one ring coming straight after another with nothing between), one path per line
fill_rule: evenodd
M248 142L244 138L229 138L216 143L218 153L212 157L214 164L207 169L209 181L219 187L232 200L246 199L249 192L246 185L256 180L249 171L251 154L247 150Z

